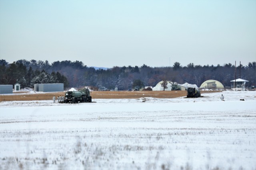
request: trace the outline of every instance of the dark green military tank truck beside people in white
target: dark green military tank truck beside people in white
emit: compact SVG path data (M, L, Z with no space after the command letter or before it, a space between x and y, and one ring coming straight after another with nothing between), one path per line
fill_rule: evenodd
M90 96L90 90L88 88L83 88L78 91L67 91L65 93L63 103L83 103L92 102L92 96Z

